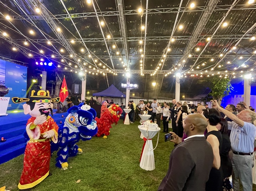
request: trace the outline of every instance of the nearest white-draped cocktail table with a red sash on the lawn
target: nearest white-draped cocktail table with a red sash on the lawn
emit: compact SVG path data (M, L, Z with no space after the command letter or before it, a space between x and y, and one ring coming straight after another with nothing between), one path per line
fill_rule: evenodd
M160 131L158 129L148 129L143 125L138 126L140 132L144 135L144 145L140 156L140 167L144 170L151 171L155 169L155 158L152 144L152 138Z

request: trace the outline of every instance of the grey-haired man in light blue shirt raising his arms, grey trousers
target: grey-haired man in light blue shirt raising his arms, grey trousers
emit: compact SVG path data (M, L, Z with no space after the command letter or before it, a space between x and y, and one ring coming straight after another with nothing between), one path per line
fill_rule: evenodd
M220 107L214 100L218 110L223 112L232 122L228 122L231 130L230 142L233 157L231 159L234 171L232 177L234 191L240 190L241 181L244 191L252 191L252 167L254 140L256 137L256 126L252 122L256 119L256 113L251 110L243 110L237 116Z

